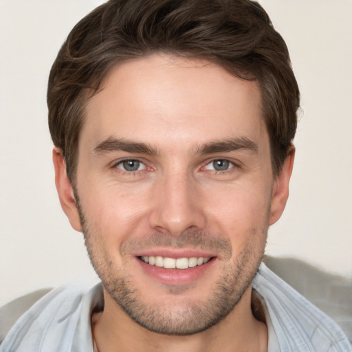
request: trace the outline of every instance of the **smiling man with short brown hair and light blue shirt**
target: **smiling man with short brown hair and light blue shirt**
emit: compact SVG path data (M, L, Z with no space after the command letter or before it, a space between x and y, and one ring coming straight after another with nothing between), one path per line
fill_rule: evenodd
M102 284L60 287L1 351L350 351L261 264L299 92L252 1L109 1L50 74L61 206Z

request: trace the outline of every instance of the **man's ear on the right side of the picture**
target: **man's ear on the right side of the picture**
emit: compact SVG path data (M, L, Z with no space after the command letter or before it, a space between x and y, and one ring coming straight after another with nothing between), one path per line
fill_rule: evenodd
M279 175L274 181L272 191L272 207L270 212L270 222L272 225L280 219L283 210L285 209L287 198L289 197L289 179L292 175L292 168L294 167L295 148L292 146L285 162L281 168Z

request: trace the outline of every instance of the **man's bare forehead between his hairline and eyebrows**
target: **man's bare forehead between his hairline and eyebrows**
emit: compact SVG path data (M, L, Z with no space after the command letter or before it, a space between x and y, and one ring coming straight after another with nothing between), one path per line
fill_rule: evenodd
M89 144L118 137L173 149L226 137L267 137L256 83L196 58L153 54L120 63L86 112L80 140Z

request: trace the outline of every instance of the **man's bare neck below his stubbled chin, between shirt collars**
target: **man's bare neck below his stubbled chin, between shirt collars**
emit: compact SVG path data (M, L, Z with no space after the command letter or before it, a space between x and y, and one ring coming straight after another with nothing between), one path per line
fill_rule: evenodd
M252 288L221 322L189 336L168 336L148 331L131 320L104 292L104 311L92 319L99 352L245 352L267 351L267 328L252 315Z

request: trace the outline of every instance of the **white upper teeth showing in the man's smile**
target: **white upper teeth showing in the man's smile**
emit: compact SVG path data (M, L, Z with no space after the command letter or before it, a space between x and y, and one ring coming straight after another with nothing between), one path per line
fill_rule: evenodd
M190 258L179 259L166 258L163 256L141 256L140 259L150 265L165 267L166 269L188 269L188 267L195 267L197 265L208 263L210 260L210 258L203 258L203 256L192 256Z

